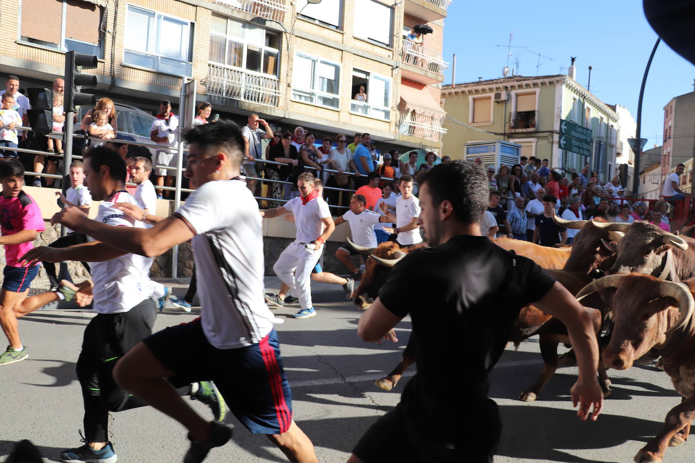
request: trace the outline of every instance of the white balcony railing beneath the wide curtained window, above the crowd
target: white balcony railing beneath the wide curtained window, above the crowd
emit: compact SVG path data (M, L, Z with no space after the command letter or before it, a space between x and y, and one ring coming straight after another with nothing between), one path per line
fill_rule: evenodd
M277 106L280 99L277 78L249 74L241 69L208 63L206 94Z

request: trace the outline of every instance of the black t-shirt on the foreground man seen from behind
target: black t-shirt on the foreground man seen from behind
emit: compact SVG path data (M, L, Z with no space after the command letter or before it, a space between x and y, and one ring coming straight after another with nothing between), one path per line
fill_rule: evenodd
M379 298L398 317L411 315L418 373L401 403L419 432L494 448L500 418L487 397L488 373L519 310L554 283L532 260L471 235L409 253L393 267Z

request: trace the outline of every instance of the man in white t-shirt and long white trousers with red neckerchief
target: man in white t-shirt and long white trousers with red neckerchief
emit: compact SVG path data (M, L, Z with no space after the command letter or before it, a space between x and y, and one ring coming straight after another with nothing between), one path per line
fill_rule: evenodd
M309 172L297 177L300 196L286 202L281 208L261 210L266 219L292 212L295 216L297 237L282 251L272 266L275 274L290 287L290 294L299 298L300 310L294 317L306 319L316 316L311 301L311 269L321 257L321 247L336 229L328 204L313 186L314 178Z

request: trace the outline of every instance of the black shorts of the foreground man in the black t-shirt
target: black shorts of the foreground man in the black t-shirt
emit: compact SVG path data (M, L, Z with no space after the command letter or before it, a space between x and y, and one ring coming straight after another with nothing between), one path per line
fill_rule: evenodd
M449 448L423 439L423 432L409 422L400 403L370 426L352 451L364 463L492 463L493 455L474 452L472 441Z

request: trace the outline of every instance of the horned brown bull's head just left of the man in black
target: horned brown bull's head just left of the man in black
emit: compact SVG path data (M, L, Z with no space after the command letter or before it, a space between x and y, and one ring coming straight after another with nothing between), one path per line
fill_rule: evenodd
M379 295L379 289L386 283L386 277L391 273L391 268L405 257L406 253L400 250L397 243L386 242L376 248L359 246L347 238L347 243L352 248L369 258L364 264L364 273L359 282L354 298L354 303L362 310L366 310Z

